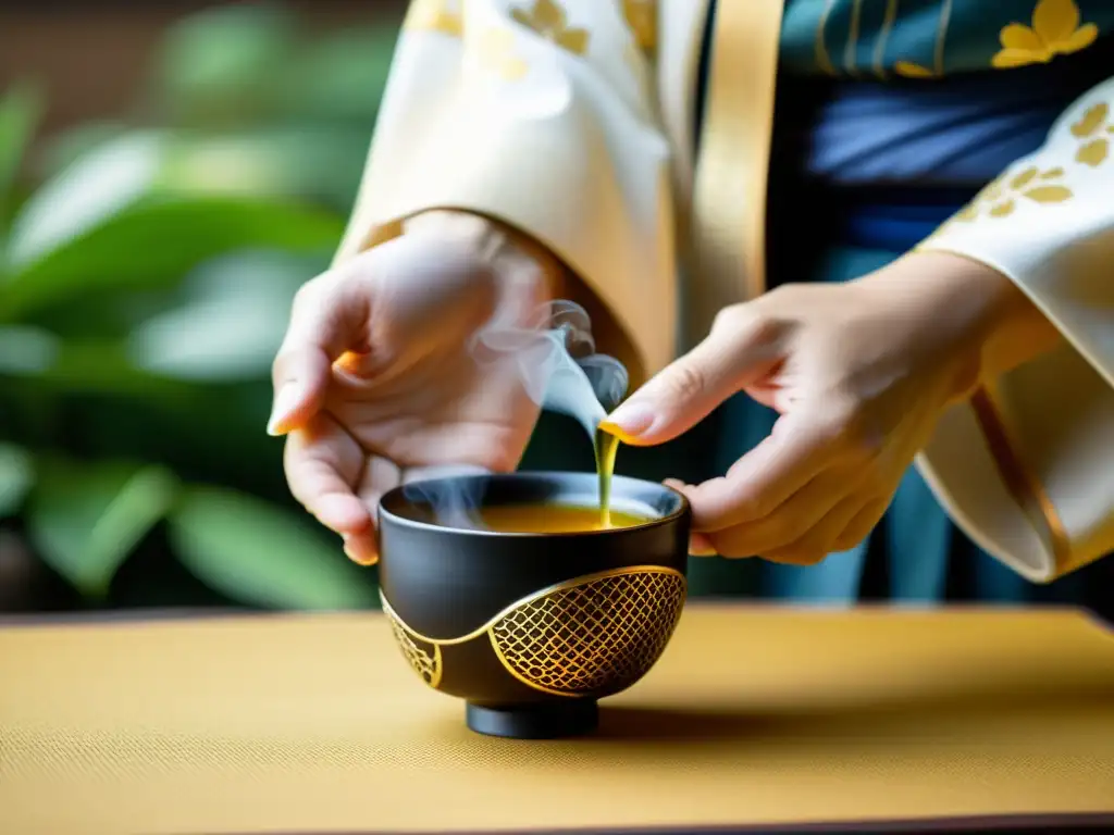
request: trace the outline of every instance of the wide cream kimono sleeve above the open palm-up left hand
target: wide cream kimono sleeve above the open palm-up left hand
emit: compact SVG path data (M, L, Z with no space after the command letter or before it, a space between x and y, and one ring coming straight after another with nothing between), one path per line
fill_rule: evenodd
M491 217L593 289L644 372L670 362L668 145L641 32L624 17L637 6L416 0L339 258L393 237L423 210Z

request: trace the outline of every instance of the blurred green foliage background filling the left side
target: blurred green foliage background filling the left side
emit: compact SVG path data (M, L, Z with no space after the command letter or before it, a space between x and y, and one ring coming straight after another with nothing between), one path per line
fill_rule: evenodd
M377 605L374 572L289 499L263 428L399 19L305 22L190 13L124 118L49 136L50 90L3 79L0 611Z

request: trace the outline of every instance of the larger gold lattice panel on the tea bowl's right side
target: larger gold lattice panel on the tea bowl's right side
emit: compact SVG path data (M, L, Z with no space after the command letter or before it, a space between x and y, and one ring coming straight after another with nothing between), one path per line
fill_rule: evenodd
M605 572L518 603L488 636L507 670L537 690L618 691L661 657L686 589L684 574L673 569Z

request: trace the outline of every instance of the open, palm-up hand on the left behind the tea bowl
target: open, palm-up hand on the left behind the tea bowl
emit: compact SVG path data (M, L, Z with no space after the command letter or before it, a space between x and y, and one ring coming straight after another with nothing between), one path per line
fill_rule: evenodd
M423 468L518 464L539 407L512 356L480 364L469 346L547 296L537 252L456 213L414 218L299 292L267 431L286 435L291 492L351 559L375 561L380 497Z

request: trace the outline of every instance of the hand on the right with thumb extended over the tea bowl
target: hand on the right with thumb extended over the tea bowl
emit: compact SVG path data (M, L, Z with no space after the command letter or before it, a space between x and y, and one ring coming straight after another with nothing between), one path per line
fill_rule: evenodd
M693 552L813 563L878 523L942 412L978 385L1008 278L945 254L911 255L842 285L785 285L723 310L710 335L608 419L625 442L668 441L743 391L773 432L722 478L675 484Z

